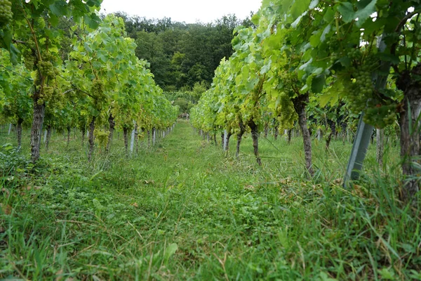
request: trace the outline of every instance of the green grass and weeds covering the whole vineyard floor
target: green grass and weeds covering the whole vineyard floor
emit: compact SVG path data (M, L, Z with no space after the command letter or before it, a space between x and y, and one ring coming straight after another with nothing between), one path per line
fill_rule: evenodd
M262 167L250 138L237 160L234 136L225 157L186 122L132 158L120 136L92 164L56 133L33 166L28 139L0 148L0 279L421 280L420 204L397 200L397 148L384 169L370 148L344 190L342 141L314 141L310 181L300 138L260 138Z

